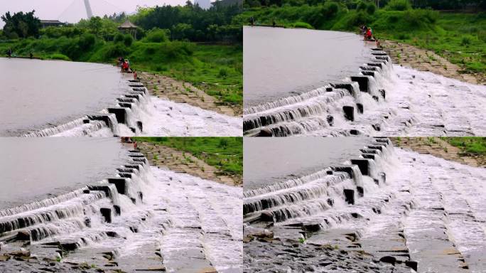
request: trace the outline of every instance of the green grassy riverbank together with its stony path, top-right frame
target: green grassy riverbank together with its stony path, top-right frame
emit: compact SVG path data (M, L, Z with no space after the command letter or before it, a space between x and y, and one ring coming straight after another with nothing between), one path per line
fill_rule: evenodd
M384 41L382 45L394 53L392 58L397 63L466 82L486 83L484 12L393 10L387 7L363 10L329 2L322 5L255 6L235 17L234 21L248 25L250 18L254 18L257 26L276 21L286 28L353 33L365 24L373 29L374 36Z

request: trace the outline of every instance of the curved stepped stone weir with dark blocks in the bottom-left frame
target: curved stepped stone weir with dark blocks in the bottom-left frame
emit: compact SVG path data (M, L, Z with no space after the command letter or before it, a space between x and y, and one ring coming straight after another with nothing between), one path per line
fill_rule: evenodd
M169 228L171 220L165 209L157 210L155 205L156 215L143 209L150 167L147 159L138 150L129 151L128 157L114 176L99 183L0 210L0 271L43 272L47 264L50 272L65 272L62 265L54 263L70 256L92 259L99 267L114 267L117 250L126 242L138 234L155 236ZM148 223L157 230L146 230ZM87 247L93 245L105 247ZM160 250L153 250L146 259L150 259L148 267L163 267ZM82 269L74 264L66 270Z

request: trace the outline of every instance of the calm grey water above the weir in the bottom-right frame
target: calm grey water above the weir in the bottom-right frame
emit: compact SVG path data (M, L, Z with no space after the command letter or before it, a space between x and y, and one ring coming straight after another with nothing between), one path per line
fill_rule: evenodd
M305 176L359 155L367 138L244 139L244 190Z

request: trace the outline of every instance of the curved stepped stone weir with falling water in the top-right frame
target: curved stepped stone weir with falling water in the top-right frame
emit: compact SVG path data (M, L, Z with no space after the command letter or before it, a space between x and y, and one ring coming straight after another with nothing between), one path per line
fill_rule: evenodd
M376 117L374 107L387 98L387 90L379 86L384 77L389 77L392 61L380 48L372 48L371 51L369 62L360 66L359 73L342 82L330 82L301 95L244 109L244 135L352 136L379 132L387 114ZM360 117L366 112L371 117L362 120ZM391 114L393 112L389 111L388 115ZM360 119L360 124L355 124L357 119Z

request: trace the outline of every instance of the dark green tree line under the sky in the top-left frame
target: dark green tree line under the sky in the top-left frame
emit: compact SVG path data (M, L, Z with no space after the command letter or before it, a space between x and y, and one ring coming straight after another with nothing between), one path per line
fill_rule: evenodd
M232 22L232 18L241 13L241 3L231 0L215 1L210 9L201 9L197 4L187 1L185 6L139 8L137 13L131 16L95 16L63 27L42 28L41 21L34 15L35 11L18 12L13 15L7 12L0 17L5 22L3 31L0 31L0 38L72 38L91 33L104 41L114 41L119 34L117 26L128 18L139 26L135 37L137 40L145 38L153 31L161 30L171 40L241 43L242 27Z

